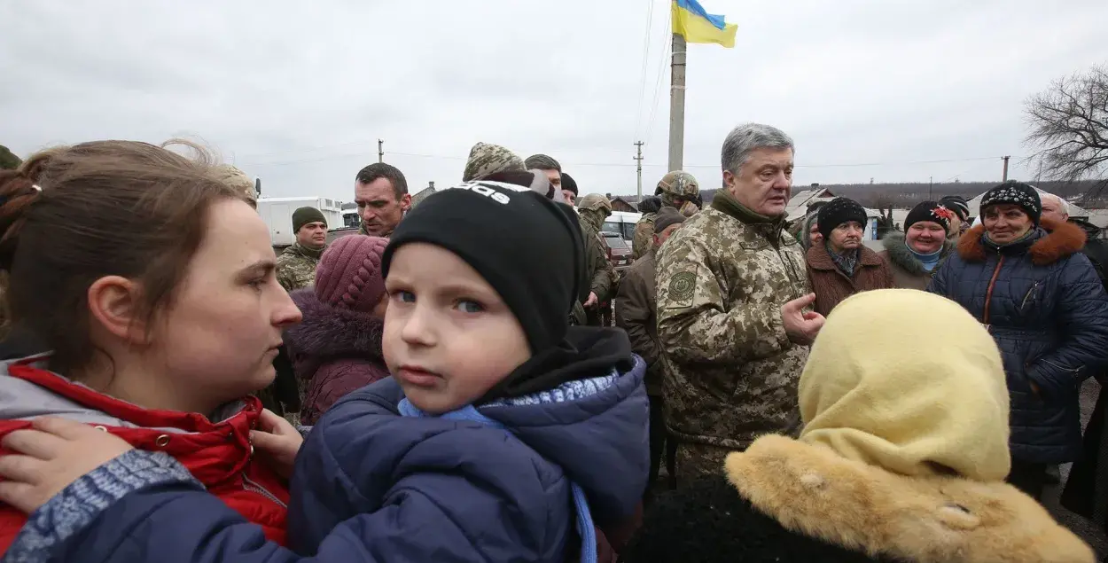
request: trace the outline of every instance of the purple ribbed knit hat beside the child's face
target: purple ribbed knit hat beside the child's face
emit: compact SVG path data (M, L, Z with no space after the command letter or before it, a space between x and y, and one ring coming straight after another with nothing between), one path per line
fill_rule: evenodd
M331 243L316 267L316 297L327 305L368 313L384 295L381 255L388 238L347 235Z

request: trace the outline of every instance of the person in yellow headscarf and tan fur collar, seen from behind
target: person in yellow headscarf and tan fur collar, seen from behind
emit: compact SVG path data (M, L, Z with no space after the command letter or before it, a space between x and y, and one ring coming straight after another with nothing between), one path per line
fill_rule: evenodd
M913 289L844 300L812 347L800 409L798 440L762 437L728 455L720 475L659 499L625 560L1094 561L1004 483L1001 356L956 304Z

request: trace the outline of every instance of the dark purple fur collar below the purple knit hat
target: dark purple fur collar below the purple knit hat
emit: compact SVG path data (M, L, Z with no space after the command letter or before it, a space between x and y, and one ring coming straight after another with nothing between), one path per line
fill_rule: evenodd
M293 291L291 297L304 320L285 330L290 351L320 360L355 356L382 361L383 320L321 303L310 287Z

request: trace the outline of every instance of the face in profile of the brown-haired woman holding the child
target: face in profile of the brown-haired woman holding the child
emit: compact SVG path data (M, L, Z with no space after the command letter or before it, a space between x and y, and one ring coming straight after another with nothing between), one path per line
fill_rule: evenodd
M245 202L208 211L207 232L152 334L152 350L198 405L227 402L268 386L281 330L300 311L277 284L269 231ZM177 387L177 386L175 386Z

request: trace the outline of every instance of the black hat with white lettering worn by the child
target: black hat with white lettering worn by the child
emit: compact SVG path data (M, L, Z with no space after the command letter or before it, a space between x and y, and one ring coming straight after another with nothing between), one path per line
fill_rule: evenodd
M584 242L575 215L524 186L461 184L432 194L392 233L397 248L428 243L458 255L492 286L523 327L532 354L557 346L584 279ZM510 234L510 236L505 236Z

